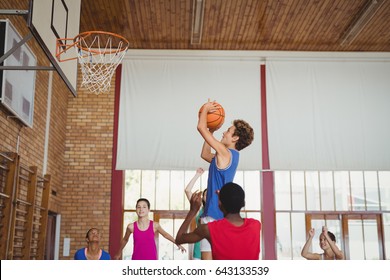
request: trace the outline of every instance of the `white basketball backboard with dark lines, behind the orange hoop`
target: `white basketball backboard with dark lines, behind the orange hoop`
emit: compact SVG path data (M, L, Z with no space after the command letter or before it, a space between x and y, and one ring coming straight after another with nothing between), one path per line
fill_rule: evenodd
M80 11L81 0L30 0L28 19L31 33L74 96L77 95L77 59L58 62L56 42L79 34Z

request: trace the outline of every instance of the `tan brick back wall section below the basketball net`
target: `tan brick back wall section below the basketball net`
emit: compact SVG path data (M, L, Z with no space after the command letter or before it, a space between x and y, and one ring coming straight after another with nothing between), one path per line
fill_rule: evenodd
M91 227L100 229L102 248L108 251L114 79L110 93L95 95L79 87L77 98L69 98L61 223L61 237L71 239L66 259L86 246Z

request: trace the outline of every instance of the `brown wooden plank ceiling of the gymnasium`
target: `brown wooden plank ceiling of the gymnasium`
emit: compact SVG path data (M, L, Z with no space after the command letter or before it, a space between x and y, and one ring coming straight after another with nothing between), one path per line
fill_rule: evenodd
M203 21L195 12L202 2ZM387 0L81 3L80 32L118 33L134 49L390 52ZM193 26L193 21L200 24Z

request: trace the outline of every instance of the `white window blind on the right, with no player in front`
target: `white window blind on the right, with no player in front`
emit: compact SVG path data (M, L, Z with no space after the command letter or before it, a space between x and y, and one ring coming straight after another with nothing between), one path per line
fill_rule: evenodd
M390 170L390 64L268 60L271 169Z

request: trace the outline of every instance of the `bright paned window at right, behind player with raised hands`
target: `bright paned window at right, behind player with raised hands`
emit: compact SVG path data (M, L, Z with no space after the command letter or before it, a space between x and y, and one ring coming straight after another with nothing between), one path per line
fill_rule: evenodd
M274 176L278 259L302 259L308 227L318 234L323 225L340 237L337 244L350 259L390 258L390 172L275 171ZM320 253L318 235L313 240L313 252Z

